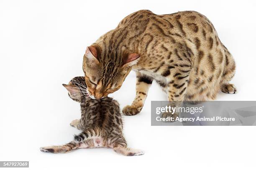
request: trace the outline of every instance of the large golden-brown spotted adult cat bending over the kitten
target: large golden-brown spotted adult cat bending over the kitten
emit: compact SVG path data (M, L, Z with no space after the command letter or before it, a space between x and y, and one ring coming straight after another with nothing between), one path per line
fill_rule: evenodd
M136 97L123 108L125 115L141 111L153 80L173 105L214 100L220 90L236 93L229 83L235 68L210 20L195 11L132 13L87 47L83 62L88 91L97 99L118 90L128 73L136 71Z

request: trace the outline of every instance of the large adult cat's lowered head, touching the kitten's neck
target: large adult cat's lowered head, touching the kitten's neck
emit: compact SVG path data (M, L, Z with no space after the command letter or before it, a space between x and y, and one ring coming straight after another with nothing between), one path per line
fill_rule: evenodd
M102 50L97 44L87 47L83 70L89 96L100 99L118 90L139 57L127 50Z

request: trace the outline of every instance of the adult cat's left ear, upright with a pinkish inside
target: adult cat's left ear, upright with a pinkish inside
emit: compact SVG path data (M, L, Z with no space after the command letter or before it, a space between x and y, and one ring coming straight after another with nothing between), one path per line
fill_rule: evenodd
M85 55L84 55L89 62L92 63L99 63L99 57L100 57L100 49L97 47L97 45L91 45L89 47L86 47Z

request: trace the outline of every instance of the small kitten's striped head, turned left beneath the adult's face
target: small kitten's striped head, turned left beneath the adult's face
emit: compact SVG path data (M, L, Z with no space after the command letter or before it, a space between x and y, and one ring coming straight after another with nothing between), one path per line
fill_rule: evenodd
M74 77L68 85L62 84L67 90L69 97L77 102L83 101L88 97L87 86L83 76Z

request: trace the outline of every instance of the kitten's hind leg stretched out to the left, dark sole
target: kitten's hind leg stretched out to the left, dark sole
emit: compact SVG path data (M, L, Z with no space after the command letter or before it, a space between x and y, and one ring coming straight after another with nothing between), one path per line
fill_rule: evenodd
M79 145L80 145L79 142L74 140L65 145L41 147L40 150L42 152L48 152L48 153L69 153L71 150L77 149Z

